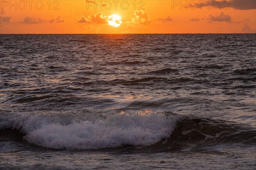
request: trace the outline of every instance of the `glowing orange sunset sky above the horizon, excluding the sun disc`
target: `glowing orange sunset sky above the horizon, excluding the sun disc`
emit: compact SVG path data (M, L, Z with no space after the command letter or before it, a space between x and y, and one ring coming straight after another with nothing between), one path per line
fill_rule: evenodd
M108 17L122 17L119 27ZM0 0L1 34L256 33L256 0Z

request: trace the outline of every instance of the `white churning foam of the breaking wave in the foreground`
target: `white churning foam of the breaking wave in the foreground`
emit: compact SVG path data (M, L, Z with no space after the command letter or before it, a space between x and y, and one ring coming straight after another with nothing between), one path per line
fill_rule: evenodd
M122 145L145 146L168 138L179 116L145 111L120 113L106 119L78 121L67 114L0 114L0 129L26 133L28 142L55 149L99 149Z

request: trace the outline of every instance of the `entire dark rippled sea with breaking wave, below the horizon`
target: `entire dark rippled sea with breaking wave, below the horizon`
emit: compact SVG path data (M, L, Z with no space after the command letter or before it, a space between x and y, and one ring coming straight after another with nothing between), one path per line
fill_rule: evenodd
M256 34L0 35L0 169L256 167Z

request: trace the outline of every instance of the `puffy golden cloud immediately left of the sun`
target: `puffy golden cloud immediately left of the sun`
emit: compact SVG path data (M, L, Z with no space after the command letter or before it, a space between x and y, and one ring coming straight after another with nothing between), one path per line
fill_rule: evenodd
M90 14L87 17L81 15L77 20L79 23L97 23L97 24L104 24L107 23L107 17L102 12L97 14Z

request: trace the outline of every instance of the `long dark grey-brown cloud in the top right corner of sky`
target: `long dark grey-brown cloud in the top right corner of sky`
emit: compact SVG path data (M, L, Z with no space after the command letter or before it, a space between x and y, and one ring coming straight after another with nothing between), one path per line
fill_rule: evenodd
M190 4L191 8L194 8L193 3ZM234 8L239 10L249 10L256 9L256 0L207 0L202 1L202 3L196 4L197 8L208 7L208 8L218 8L218 9L228 9Z

